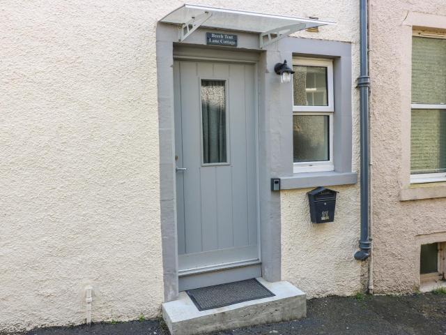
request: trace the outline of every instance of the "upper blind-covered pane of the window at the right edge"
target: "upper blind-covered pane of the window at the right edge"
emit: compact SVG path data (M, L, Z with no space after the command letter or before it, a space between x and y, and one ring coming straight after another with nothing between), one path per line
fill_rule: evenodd
M446 40L413 37L412 102L446 103Z

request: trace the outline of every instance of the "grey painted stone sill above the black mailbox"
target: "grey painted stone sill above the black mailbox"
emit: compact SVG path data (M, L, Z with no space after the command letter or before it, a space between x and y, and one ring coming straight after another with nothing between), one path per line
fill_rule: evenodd
M280 178L280 189L293 190L295 188L351 185L356 183L356 172L305 172L295 173L293 177Z

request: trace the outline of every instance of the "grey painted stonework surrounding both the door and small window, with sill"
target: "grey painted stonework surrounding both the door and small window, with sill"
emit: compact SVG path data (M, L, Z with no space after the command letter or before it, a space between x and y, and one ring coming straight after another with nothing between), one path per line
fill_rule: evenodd
M176 186L174 161L174 45L197 59L258 59L258 145L259 207L262 277L281 278L280 193L270 191L270 178L282 179L282 188L303 188L355 184L351 171L351 45L326 40L287 37L259 50L257 34L238 32L238 47L205 45L206 31L197 29L185 43L176 43L178 29L167 24L157 27L157 75L160 119L160 189L163 239L164 296L178 296L178 250L176 233ZM218 31L228 33L228 31ZM230 32L229 32L230 33ZM229 56L229 54L231 56ZM281 84L274 66L293 55L334 60L334 172L293 174L293 94L291 84Z

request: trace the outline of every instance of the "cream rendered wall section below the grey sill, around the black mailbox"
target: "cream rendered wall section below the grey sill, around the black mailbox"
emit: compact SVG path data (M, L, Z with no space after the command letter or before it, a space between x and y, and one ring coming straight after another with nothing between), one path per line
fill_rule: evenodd
M307 191L282 191L282 277L307 297L352 295L361 291L362 267L353 258L359 234L359 188L332 186L337 195L334 222L313 224Z

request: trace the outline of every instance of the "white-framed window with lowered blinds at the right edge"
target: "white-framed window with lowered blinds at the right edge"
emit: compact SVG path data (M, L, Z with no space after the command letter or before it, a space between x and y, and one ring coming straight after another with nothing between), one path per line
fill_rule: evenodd
M446 36L412 38L410 182L446 181Z

